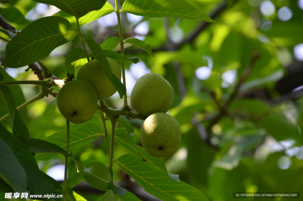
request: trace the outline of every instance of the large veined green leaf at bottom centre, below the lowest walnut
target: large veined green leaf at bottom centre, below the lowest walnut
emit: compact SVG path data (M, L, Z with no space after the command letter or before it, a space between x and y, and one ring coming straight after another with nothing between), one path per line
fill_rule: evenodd
M114 161L121 170L131 176L146 192L159 199L167 201L208 200L195 187L182 181L172 181L166 172L153 169L132 154L124 154Z

